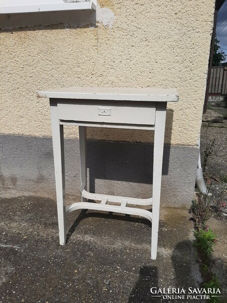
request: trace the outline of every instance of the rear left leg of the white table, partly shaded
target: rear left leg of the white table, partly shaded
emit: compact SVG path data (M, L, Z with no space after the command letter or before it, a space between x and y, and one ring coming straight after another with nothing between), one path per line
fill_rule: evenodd
M79 126L81 185L87 190L87 127ZM87 199L82 196L82 202Z

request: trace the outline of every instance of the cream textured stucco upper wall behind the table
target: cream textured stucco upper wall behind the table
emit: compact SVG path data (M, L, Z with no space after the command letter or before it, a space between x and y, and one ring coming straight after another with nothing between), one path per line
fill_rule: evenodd
M168 106L165 142L195 146L213 11L214 0L100 0L96 26L95 13L86 12L1 18L0 132L51 136L48 100L38 99L37 90L177 87L180 102ZM42 26L17 28L31 20ZM89 129L88 134L92 139L152 140L147 131ZM77 128L66 128L66 136L77 137Z

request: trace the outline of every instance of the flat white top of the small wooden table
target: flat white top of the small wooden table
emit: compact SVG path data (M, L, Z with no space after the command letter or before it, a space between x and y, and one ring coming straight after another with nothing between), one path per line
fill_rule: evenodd
M38 97L89 100L178 102L176 88L68 87L38 91Z

